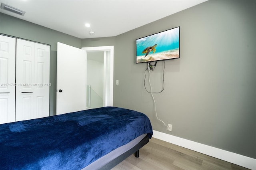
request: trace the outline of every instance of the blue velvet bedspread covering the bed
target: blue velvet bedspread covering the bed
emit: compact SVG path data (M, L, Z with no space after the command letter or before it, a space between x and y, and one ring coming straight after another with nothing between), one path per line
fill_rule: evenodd
M80 170L141 134L146 115L102 107L0 125L1 170Z

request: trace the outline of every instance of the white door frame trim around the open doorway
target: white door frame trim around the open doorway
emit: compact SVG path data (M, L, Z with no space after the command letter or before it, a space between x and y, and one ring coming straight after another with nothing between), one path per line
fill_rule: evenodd
M104 51L104 106L113 106L114 46L82 47L87 52ZM86 61L87 63L87 61Z

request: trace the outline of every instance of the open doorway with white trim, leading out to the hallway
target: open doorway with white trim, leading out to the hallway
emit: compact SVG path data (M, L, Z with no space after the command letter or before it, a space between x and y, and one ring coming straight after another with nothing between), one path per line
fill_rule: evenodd
M87 99L89 100L87 102L87 104L89 104L89 107L87 105L87 109L91 109L95 107L113 106L114 46L82 47L82 49L86 51L87 61L91 59L91 57L95 56L95 54L100 55L98 58L98 61L101 61L101 60L103 61L102 76L99 76L99 77L103 77L103 80L99 80L99 81L102 81L103 89L98 89L98 87L92 87L92 85L87 84L87 92L89 93L89 94L87 93L87 96L88 96ZM90 62L88 64L90 64ZM100 72L100 71L97 71L97 72ZM88 71L88 74L91 74L90 71ZM87 75L87 77L92 77L92 75ZM103 93L103 94L96 94L95 93L96 91L99 91L99 92L101 91L100 93ZM91 96L91 99L89 99L90 96ZM92 99L92 97L94 97L94 99ZM100 98L102 98L102 101L100 101L101 100Z

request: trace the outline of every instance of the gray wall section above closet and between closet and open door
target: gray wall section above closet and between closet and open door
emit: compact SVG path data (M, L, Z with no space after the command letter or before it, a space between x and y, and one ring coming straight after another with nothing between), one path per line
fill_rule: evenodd
M51 45L50 115L56 115L57 42L81 48L81 39L0 13L0 33Z

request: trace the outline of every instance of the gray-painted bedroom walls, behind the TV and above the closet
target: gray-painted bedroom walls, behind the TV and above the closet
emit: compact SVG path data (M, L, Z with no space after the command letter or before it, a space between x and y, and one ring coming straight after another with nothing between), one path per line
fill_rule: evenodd
M0 32L52 46L60 40L76 47L114 45L114 106L145 113L154 130L256 158L255 17L256 1L216 0L110 38L80 40L3 14ZM165 62L165 88L154 95L158 117L173 125L170 132L144 89L146 64L135 63L135 40L177 26L180 59ZM153 91L162 89L163 67L158 62L151 71Z

